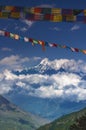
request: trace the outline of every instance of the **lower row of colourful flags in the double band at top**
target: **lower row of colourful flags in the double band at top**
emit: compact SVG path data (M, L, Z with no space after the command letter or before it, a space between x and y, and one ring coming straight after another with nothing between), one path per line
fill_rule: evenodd
M51 22L82 22L86 23L86 16L75 15L55 15L55 14L21 14L20 12L0 12L0 18L5 19L27 19L31 21L51 21Z

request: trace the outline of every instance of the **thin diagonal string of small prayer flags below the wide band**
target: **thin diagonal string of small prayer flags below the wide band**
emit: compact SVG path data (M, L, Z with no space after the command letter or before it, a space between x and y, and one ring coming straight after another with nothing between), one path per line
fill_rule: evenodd
M22 37L22 36L19 36L18 34L13 34L11 32L7 32L7 31L3 31L3 30L0 30L0 36L9 37L9 38L12 38L12 39L15 39L15 40L23 40L24 42L32 43L32 45L39 44L39 45L42 46L43 50L45 50L45 47L55 47L55 48L59 47L59 48L62 48L62 49L69 49L72 52L82 52L83 54L86 54L85 49L82 50L82 49L79 49L79 48L69 47L69 46L61 45L61 44L57 44L57 43L50 43L50 42L47 42L47 41L36 40L36 39L33 39L33 38L28 38L28 37Z

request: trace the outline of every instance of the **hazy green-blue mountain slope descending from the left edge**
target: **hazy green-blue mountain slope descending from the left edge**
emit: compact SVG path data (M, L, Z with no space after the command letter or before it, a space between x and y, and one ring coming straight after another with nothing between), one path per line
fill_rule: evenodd
M35 130L45 120L26 113L0 95L0 130Z

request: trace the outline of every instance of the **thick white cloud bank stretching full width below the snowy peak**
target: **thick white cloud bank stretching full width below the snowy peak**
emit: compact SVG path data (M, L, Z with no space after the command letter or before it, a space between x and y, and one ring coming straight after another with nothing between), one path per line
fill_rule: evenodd
M15 91L13 86L27 91L28 95L41 98L61 98L72 101L86 100L86 81L73 73L58 73L54 75L15 75L5 70L0 75L0 94ZM7 84L7 85L6 85ZM38 87L34 87L36 85ZM84 87L82 87L84 85ZM16 88L17 89L17 88Z

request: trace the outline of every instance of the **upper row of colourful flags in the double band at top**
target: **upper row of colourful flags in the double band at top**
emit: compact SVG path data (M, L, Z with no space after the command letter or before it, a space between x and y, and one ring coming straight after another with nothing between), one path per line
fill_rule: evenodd
M33 14L62 14L78 15L84 12L84 9L65 9L65 8L47 8L47 7L19 7L19 6L0 6L0 11L27 12Z

